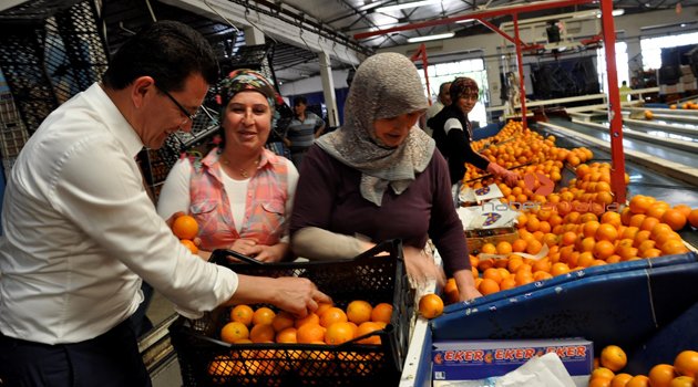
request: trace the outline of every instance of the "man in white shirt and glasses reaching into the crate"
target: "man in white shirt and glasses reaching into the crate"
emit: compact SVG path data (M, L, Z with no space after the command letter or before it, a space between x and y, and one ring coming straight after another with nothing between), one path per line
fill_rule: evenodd
M134 157L191 130L217 75L201 34L155 23L27 143L2 207L6 385L150 386L129 321L143 299L141 279L189 317L260 302L304 316L329 301L308 280L238 275L193 255L143 188Z

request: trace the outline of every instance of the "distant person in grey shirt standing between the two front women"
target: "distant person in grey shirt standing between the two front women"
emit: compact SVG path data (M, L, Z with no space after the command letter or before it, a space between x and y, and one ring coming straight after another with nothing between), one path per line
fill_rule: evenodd
M300 168L306 151L325 130L325 121L317 114L308 112L307 107L308 100L306 97L299 96L294 100L296 117L288 125L288 132L286 133L287 145L290 148L291 160L296 168Z

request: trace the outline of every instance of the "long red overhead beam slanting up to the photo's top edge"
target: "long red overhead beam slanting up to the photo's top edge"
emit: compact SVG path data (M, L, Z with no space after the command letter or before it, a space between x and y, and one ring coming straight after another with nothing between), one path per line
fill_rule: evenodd
M497 7L497 8L492 8L485 11L476 11L476 12L461 14L461 15L452 17L452 18L423 21L419 23L393 27L393 28L389 28L384 30L361 32L361 33L355 34L353 39L360 40L360 39L371 38L376 35L383 35L391 32L409 31L409 30L417 30L417 29L427 28L427 27L451 24L461 20L493 18L493 17L501 17L505 14L535 12L535 11L541 11L545 9L551 9L551 8L573 7L573 6L589 3L595 0L552 0L552 1L540 1L535 3L521 4L521 6Z

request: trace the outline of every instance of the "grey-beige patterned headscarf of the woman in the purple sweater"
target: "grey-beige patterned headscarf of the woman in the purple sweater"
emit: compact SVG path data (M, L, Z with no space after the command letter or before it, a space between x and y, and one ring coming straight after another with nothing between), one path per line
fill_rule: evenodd
M387 147L376 137L373 123L429 107L414 64L398 53L380 53L359 66L345 104L346 124L320 137L318 146L361 175L361 196L381 205L388 186L400 195L423 171L434 142L419 127L406 140Z

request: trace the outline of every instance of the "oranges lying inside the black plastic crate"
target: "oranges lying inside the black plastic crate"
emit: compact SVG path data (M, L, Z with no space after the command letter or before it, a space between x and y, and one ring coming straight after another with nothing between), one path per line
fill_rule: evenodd
M392 305L372 306L366 301L351 301L346 310L320 304L315 313L297 318L287 312L276 313L267 306L253 310L240 304L230 310L230 322L220 330L220 339L230 344L283 343L339 345L357 337L358 344L381 344L381 331L390 323Z

